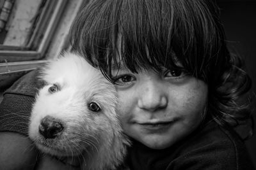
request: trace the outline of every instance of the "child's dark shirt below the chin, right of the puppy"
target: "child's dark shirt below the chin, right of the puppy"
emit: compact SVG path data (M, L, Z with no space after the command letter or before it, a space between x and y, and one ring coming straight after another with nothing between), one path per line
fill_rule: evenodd
M127 156L131 169L254 169L242 139L213 120L164 150L133 141Z

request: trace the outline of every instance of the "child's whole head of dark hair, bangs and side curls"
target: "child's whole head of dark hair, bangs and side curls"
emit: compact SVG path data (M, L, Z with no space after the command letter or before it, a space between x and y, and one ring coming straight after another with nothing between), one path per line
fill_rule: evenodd
M234 127L250 118L248 104L237 99L251 80L227 49L212 0L93 0L76 17L70 38L72 50L109 79L120 60L134 73L159 65L180 68L179 61L209 86L208 112L216 122Z

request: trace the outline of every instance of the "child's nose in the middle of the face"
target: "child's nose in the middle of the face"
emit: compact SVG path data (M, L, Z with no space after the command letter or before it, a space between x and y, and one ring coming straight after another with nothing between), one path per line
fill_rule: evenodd
M166 108L168 104L167 92L159 82L149 81L141 87L138 106L148 111L156 111Z

